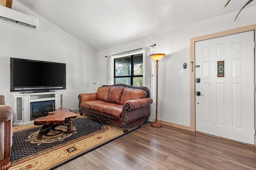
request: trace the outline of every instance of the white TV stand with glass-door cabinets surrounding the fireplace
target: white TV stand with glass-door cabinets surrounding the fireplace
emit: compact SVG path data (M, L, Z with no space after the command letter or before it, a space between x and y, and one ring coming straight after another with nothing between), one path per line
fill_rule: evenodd
M63 92L19 93L14 96L14 126L33 124L30 120L30 102L55 100L55 109L63 105Z

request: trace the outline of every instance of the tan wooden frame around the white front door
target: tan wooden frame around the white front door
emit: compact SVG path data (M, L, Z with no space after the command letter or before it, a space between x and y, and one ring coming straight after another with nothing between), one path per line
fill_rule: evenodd
M195 43L207 39L223 37L246 31L254 31L254 41L256 41L256 24L230 29L218 33L203 35L190 39L190 131L196 131L196 89L195 89ZM256 48L254 48L254 81L256 80ZM255 84L255 82L254 82ZM254 92L254 129L256 128L256 92ZM256 135L255 135L256 146Z

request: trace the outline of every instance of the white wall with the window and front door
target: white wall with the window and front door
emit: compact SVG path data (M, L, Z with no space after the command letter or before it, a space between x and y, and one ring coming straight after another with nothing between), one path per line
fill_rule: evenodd
M158 119L190 126L190 38L256 23L256 6L212 18L174 31L146 37L98 52L98 84L106 84L105 55L114 55L156 43L154 53L165 53L158 68ZM183 63L186 74L180 76ZM154 82L155 84L155 82Z

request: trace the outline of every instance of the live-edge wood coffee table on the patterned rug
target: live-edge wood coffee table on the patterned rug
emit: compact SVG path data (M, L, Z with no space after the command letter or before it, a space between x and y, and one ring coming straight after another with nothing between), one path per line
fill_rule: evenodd
M48 133L50 130L61 131L55 129L56 126L65 125L68 127L67 131L61 131L62 133L72 133L73 125L70 119L77 117L76 113L73 113L70 109L60 107L56 111L48 112L47 116L39 117L34 120L34 125L43 125L38 134L38 140L42 139L42 136Z

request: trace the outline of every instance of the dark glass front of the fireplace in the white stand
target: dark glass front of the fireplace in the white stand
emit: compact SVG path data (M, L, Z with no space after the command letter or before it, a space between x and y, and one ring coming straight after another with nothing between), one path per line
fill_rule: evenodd
M49 111L55 110L55 100L31 102L30 103L30 120L38 117L47 116Z

